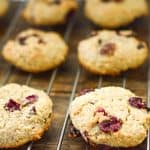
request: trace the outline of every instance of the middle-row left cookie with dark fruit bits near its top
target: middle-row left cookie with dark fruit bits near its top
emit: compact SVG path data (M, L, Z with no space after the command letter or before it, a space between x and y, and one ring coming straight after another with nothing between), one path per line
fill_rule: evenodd
M68 46L55 32L28 29L3 48L4 58L16 67L33 73L47 71L64 62Z

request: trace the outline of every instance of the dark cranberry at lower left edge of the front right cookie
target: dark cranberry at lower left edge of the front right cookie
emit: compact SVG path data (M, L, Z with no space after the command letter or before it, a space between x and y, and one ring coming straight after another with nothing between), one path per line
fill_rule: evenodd
M69 137L75 138L81 136L79 130L77 130L72 123L69 125Z

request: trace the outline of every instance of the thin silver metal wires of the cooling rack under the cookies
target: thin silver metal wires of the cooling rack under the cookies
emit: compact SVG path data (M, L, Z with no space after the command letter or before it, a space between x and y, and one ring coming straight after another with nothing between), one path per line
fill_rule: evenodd
M4 43L9 39L9 36L13 32L13 30L15 29L16 24L18 22L18 19L20 17L20 12L21 12L22 8L23 8L23 2L19 5L19 7L18 7L14 17L12 18L12 21L11 21L11 23L10 23L8 29L7 29L7 32L5 33L5 35L3 36L3 39L0 42L0 48L3 47ZM75 20L76 20L75 17L73 17L70 20L70 22L68 23L68 25L67 25L67 28L66 28L66 31L65 31L65 34L64 34L64 39L66 41L69 40L71 31L73 30L73 26L75 25ZM52 89L53 83L54 83L56 75L57 75L57 71L58 71L58 68L55 69L52 72L51 76L50 76L48 87L47 87L47 94L49 94L51 89ZM12 73L12 66L9 66L9 68L8 68L8 70L6 72L5 78L0 83L1 86L8 82L8 80L9 80L9 78L11 76L11 73ZM72 92L71 92L71 95L70 95L69 106L68 106L68 109L67 109L67 112L66 112L66 115L65 115L65 119L64 119L64 123L63 123L62 129L61 129L61 133L60 133L60 136L59 136L57 150L61 150L63 137L64 137L64 134L65 134L66 126L67 126L68 119L69 119L69 107L70 107L70 103L73 101L73 98L74 98L75 93L76 93L76 89L77 89L77 86L78 86L78 83L79 83L79 79L80 79L80 73L81 73L81 68L78 67L77 71L76 71L74 83L73 83ZM32 78L33 78L33 74L29 73L28 76L27 76L25 84L26 85L30 85L30 82L31 82ZM148 107L150 107L150 60L148 61L148 75L147 75L147 78L148 78L148 83L147 83L147 99L148 99L148 102L147 102L147 105L148 105ZM103 82L103 77L100 76L99 77L99 81L98 81L98 85L97 85L98 88L101 88L102 82ZM126 82L127 82L127 76L125 74L123 76L123 79L122 79L122 87L124 87L124 88L126 87ZM33 142L31 142L27 146L27 150L31 150L32 146L33 146ZM90 149L88 144L85 146L85 149L86 150ZM119 148L117 148L116 150L119 150ZM147 150L150 150L150 130L148 131Z

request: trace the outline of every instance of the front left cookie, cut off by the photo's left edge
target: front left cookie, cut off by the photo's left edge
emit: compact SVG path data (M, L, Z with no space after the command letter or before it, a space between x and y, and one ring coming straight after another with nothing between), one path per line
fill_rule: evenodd
M40 90L7 84L0 88L0 148L41 138L50 125L52 101Z

